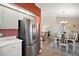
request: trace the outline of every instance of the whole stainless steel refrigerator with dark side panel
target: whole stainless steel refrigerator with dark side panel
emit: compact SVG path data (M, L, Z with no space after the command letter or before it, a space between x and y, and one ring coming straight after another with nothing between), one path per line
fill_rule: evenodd
M34 20L19 20L18 38L22 39L22 55L35 56L38 54L37 31Z

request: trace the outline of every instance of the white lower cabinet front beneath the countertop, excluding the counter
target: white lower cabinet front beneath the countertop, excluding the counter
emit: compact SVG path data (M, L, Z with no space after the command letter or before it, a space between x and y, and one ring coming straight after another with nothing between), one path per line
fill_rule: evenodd
M0 47L0 56L21 56L21 42Z

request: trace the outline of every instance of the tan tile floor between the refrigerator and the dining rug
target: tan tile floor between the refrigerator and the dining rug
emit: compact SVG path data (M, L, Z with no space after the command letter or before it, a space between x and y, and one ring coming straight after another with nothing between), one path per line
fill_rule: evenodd
M46 39L45 41L41 41L42 52L40 52L38 56L61 56L63 55L62 52L59 53L57 51L54 51L48 48L48 45L51 44L52 42L54 42L53 39Z

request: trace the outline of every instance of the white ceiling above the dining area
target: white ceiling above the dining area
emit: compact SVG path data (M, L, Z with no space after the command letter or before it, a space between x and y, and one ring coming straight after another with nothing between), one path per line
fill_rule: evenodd
M41 16L79 17L79 3L38 3L36 5L41 8Z

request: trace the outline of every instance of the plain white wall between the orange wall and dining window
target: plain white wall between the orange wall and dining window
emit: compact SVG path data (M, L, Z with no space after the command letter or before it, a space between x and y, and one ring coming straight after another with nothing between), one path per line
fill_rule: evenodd
M44 16L41 18L41 28L46 26L45 31L51 31L52 33L57 31L56 17Z

